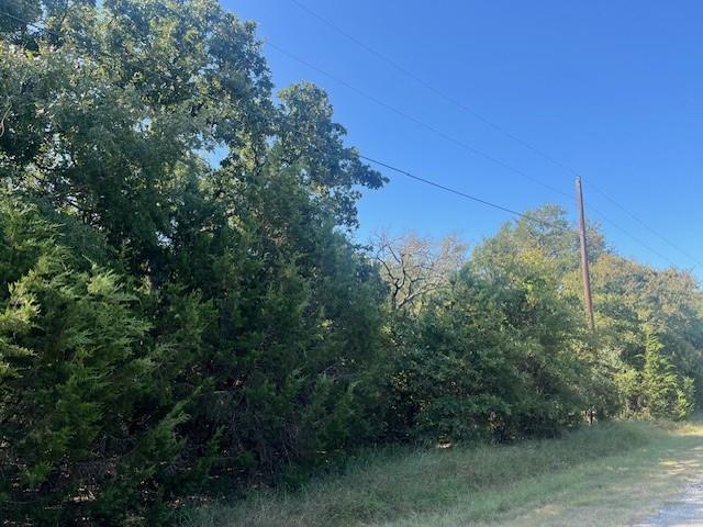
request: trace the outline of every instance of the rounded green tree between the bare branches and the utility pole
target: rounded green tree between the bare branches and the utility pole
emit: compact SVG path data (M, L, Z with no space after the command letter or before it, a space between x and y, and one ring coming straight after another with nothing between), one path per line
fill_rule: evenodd
M550 435L588 407L579 310L560 294L559 262L535 246L506 253L505 233L428 292L414 319L393 321L386 421L395 437Z

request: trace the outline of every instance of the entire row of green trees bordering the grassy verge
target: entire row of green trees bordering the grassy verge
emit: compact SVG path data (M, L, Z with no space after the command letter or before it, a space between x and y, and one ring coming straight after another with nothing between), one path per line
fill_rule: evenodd
M212 0L0 5L5 524L158 525L358 447L692 412L689 273L592 227L591 336L556 208L470 255L359 246L384 178L322 90L274 96L252 23Z

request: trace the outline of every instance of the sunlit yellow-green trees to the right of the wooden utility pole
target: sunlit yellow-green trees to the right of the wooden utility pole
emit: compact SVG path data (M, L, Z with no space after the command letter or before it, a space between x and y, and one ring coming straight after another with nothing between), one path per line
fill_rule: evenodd
M701 293L692 277L672 269L655 270L615 255L603 256L591 269L599 341L621 363L622 389L631 394L624 395L628 406L641 410L644 395L638 393L646 392L644 384L658 375L701 382L695 365L700 365L703 349L703 319ZM648 358L652 361L649 365ZM643 386L635 390L633 379L647 368L654 368L654 377L641 380ZM625 374L627 371L631 373ZM673 396L676 390L669 391Z

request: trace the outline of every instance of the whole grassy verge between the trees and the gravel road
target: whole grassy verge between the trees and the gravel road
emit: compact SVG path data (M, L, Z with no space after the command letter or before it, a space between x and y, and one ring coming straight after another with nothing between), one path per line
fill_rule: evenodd
M703 424L607 423L514 446L370 453L293 493L191 511L182 527L627 525L703 467Z

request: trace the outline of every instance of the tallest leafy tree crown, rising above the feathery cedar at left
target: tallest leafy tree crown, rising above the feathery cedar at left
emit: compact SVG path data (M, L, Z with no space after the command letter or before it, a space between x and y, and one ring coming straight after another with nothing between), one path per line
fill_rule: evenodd
M34 32L36 53L1 48L0 173L104 231L135 272L160 281L179 186L207 173L197 150L224 143L246 156L266 141L271 85L254 26L214 2L47 14L60 42Z

